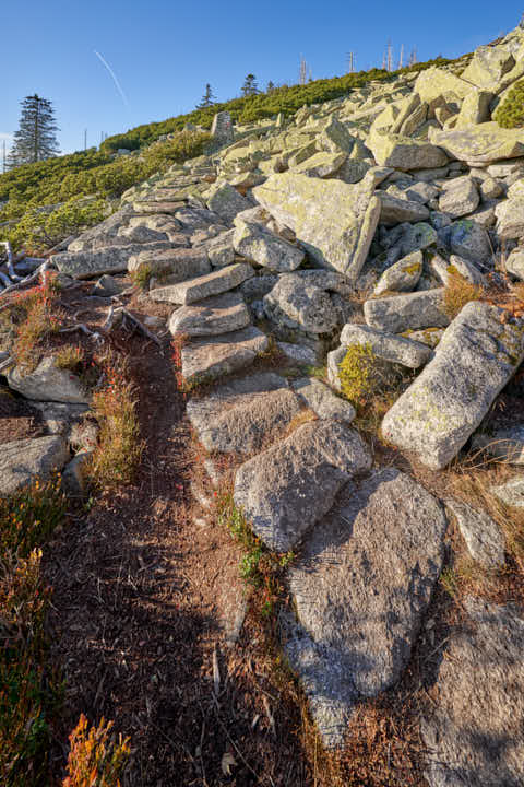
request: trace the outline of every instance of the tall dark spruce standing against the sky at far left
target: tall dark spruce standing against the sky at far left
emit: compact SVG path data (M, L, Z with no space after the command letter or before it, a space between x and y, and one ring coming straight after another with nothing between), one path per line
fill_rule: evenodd
M36 93L26 96L22 102L19 130L14 133L11 165L32 164L59 155L57 131L51 102Z

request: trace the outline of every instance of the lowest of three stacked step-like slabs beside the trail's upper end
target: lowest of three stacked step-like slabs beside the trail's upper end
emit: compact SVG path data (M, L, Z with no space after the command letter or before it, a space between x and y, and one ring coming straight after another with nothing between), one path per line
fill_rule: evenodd
M195 385L231 374L250 366L267 346L265 333L253 327L196 339L182 348L182 377L188 384Z

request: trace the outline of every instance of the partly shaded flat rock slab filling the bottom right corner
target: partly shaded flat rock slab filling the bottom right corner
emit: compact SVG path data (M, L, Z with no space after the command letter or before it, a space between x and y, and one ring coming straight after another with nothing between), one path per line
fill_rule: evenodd
M524 613L466 598L422 724L430 787L524 784Z

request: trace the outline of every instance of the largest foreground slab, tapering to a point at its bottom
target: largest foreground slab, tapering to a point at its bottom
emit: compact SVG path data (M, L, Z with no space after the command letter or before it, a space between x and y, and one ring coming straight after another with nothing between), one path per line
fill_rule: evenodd
M349 482L289 572L297 623L286 650L323 742L342 745L359 698L406 667L439 576L446 519L395 469Z

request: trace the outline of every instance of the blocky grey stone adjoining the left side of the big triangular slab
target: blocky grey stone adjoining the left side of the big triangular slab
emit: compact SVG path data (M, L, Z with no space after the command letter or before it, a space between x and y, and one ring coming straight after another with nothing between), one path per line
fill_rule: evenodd
M253 222L237 223L233 243L242 257L279 273L295 270L305 258L302 249Z

